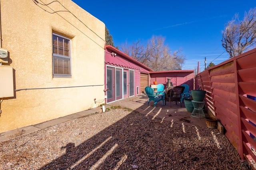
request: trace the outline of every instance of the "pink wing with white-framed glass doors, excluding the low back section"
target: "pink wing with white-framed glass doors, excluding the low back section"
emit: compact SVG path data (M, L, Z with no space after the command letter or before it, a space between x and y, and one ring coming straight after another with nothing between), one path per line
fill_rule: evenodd
M118 49L105 47L106 103L137 96L150 83L148 66L136 61ZM141 89L142 88L142 89Z

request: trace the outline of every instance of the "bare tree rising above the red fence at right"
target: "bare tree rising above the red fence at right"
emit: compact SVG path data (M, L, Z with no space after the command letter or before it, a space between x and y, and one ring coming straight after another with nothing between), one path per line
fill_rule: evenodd
M230 58L240 55L256 46L256 8L245 12L244 20L234 19L226 24L222 32L222 46L229 53Z

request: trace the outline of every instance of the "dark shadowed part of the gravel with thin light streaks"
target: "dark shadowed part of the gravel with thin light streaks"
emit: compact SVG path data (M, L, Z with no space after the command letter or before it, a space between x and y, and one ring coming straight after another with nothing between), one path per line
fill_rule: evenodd
M214 139L215 137L215 139ZM217 141L217 142L216 142ZM162 122L137 111L78 146L45 169L239 169L239 155L216 129Z

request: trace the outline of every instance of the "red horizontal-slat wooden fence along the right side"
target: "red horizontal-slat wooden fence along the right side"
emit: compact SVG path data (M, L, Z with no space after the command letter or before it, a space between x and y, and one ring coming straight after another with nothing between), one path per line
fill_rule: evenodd
M256 155L256 49L210 67L196 76L206 106L225 128L242 160ZM248 96L250 95L250 96ZM253 100L252 100L253 99ZM256 138L255 138L256 139Z

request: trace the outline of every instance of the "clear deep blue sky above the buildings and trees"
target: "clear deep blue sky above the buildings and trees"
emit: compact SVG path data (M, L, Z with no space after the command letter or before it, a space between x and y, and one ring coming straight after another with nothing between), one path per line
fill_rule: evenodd
M182 49L183 70L194 70L199 61L201 71L205 57L206 66L229 59L221 43L225 24L256 7L255 0L72 1L105 23L115 46L162 36L172 51Z

